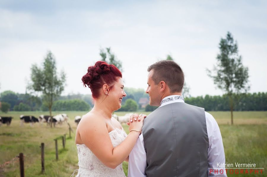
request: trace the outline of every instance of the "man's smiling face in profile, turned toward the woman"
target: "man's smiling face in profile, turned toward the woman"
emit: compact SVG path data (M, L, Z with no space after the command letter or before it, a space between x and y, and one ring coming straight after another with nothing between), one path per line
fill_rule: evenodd
M148 73L147 77L147 90L146 93L149 94L149 104L151 106L160 106L161 95L160 95L160 84L155 84L152 79L153 70Z

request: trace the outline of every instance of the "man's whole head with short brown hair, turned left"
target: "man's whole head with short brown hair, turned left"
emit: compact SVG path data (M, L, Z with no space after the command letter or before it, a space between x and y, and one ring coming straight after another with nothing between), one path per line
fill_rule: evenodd
M182 94L184 73L176 62L163 60L150 65L147 69L147 90L151 106L160 106L161 99L173 94Z

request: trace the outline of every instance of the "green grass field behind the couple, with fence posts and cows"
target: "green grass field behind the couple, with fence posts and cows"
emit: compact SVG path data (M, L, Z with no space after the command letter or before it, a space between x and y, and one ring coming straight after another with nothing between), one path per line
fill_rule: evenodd
M61 112L53 112L54 115ZM29 124L20 126L19 116L48 114L47 112L8 112L1 116L13 116L9 127L0 127L0 165L12 160L23 152L25 163L25 176L70 176L78 168L77 149L74 142L76 124L75 115L83 115L86 112L65 112L69 115L69 123L74 130L72 138L68 139L68 126L57 125L56 128L38 123L30 127ZM125 115L126 112L115 112L117 115ZM141 113L141 112L139 112ZM142 112L149 114L149 112ZM210 112L217 120L223 138L225 158L227 163L255 163L257 168L267 167L267 112L234 112L234 124L228 125L230 112ZM126 133L128 126L123 125ZM62 148L61 139L59 145L59 160L55 160L55 141L53 139L67 133L66 149ZM45 143L45 173L41 174L41 142ZM123 162L123 170L127 176L128 163ZM266 170L266 169L264 169ZM231 175L228 176L267 176L263 175ZM20 176L18 158L7 165L0 166L0 176Z

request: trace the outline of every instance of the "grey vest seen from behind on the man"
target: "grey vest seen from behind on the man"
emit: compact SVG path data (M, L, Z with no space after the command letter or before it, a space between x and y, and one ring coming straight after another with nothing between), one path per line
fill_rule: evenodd
M147 177L208 176L204 108L184 102L159 107L144 119Z

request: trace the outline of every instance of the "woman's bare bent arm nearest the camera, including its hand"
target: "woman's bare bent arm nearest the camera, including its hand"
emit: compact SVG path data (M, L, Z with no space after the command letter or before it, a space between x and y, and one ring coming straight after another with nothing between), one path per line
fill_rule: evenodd
M140 129L144 118L139 121L133 121L130 125L132 129ZM116 168L130 154L140 132L131 131L125 140L116 146L112 145L106 123L97 118L91 117L83 119L80 127L80 137L82 142L98 157L98 159L109 168Z

